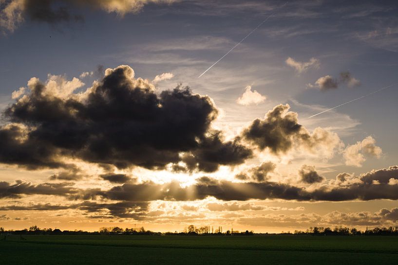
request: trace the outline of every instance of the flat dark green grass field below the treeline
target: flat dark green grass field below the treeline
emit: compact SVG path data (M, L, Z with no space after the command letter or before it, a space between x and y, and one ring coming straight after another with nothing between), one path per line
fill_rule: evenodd
M10 236L0 264L397 265L395 236Z

